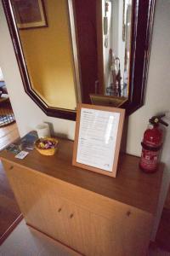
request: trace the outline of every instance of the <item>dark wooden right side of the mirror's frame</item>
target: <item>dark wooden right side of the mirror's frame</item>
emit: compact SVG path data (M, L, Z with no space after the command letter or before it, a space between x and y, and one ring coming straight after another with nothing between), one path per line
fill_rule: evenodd
M122 105L127 114L133 113L145 102L155 4L155 0L133 0L129 96Z

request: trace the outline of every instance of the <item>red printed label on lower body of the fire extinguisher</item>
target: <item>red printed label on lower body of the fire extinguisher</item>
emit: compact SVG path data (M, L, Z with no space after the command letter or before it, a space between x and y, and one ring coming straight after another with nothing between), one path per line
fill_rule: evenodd
M150 151L142 149L140 166L145 170L155 170L158 162L159 151Z

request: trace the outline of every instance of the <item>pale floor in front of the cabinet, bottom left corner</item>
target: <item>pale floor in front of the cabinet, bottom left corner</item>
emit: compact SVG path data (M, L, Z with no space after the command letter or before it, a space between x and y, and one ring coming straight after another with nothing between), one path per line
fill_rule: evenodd
M29 228L22 220L0 247L0 256L80 256L48 236Z

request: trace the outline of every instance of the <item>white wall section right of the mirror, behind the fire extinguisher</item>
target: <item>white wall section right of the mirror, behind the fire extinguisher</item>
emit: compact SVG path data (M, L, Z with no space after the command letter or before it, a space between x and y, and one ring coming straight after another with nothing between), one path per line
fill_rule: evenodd
M127 132L127 153L140 155L140 142L148 119L156 113L170 111L170 0L156 1L156 14L150 55L150 69L143 108L129 117ZM170 125L170 119L167 121ZM161 160L166 164L163 176L160 205L157 212L155 236L170 180L170 126L167 128ZM134 191L135 193L135 191Z

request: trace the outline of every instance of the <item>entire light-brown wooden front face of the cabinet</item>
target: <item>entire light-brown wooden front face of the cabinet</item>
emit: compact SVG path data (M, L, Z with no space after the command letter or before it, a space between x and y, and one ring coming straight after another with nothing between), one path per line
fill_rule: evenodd
M89 256L146 253L150 212L6 160L3 165L27 224Z

